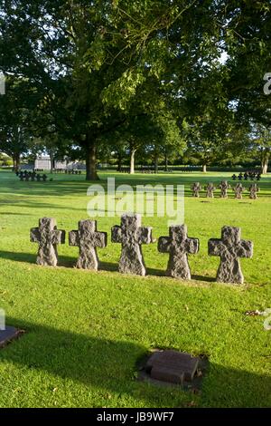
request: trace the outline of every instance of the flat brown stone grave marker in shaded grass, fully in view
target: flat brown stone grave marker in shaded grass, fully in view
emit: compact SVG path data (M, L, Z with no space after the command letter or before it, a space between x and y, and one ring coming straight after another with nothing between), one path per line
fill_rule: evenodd
M200 359L189 353L166 350L154 352L145 364L145 371L152 379L163 382L192 382Z

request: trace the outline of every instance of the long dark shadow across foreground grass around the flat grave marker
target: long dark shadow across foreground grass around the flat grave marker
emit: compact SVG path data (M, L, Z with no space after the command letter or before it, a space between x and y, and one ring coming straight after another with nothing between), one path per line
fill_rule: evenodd
M94 386L99 391L130 395L147 404L168 407L186 397L179 388L161 388L135 380L136 365L150 348L137 342L109 340L88 334L73 333L32 324L8 317L7 324L26 331L20 339L0 351L0 361L22 366L23 374L42 371ZM4 378L2 377L2 382ZM203 377L201 406L205 407L268 407L271 377L210 363ZM103 396L100 396L103 403ZM151 405L148 405L151 406ZM172 406L172 405L170 405ZM184 405L185 406L185 405Z

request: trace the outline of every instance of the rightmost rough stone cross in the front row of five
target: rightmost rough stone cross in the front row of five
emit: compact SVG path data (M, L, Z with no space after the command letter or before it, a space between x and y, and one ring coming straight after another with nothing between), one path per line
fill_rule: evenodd
M217 282L242 284L244 276L238 257L252 257L253 243L240 239L241 229L223 227L221 239L213 238L208 243L208 254L220 256L220 267Z

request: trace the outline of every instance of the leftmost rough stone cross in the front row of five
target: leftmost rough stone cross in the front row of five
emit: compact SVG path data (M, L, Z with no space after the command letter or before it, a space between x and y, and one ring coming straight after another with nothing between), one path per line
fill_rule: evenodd
M57 245L65 243L65 231L58 230L54 218L41 218L39 228L32 228L30 240L39 244L37 264L57 266Z

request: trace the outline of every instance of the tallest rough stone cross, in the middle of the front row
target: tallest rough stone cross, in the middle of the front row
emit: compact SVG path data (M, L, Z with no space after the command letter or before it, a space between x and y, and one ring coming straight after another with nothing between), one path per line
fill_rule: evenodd
M119 272L145 276L141 245L153 242L152 228L141 227L140 215L125 214L121 217L121 226L112 228L111 238L113 243L122 245Z

